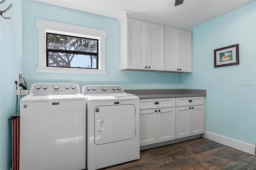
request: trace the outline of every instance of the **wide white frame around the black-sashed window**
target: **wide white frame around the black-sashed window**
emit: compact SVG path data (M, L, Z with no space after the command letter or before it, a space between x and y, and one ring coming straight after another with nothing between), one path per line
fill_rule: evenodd
M36 19L38 28L38 66L36 72L40 73L74 73L74 74L99 74L106 75L105 69L105 42L107 38L106 30L75 26L59 22ZM46 67L46 32L62 34L67 36L77 36L92 38L99 41L98 45L98 69L83 69L69 67Z

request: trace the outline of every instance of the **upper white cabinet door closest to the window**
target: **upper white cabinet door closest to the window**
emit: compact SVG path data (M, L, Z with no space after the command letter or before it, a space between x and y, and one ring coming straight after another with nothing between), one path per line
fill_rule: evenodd
M128 69L145 69L147 65L147 22L127 19Z

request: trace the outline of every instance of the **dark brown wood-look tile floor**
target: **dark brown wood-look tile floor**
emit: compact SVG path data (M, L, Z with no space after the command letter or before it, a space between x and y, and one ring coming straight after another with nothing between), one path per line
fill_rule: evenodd
M197 138L140 152L140 159L106 170L256 170L256 156Z

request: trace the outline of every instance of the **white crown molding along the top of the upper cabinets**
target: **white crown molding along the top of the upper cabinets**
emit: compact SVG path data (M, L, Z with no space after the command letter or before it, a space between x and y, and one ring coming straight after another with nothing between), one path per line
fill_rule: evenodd
M186 30L186 31L190 31L190 32L193 32L193 30L194 30L194 27L190 26L190 25L180 24L178 22L172 22L172 21L165 20L162 18L149 16L146 14L140 14L138 12L132 12L129 10L123 10L123 12L120 14L120 17L118 18L119 23L122 23L122 20L124 20L126 18L133 18L136 20L142 20L142 21L151 22L154 24L160 24L160 25L164 25L164 26L168 26L168 27L178 28L180 30Z

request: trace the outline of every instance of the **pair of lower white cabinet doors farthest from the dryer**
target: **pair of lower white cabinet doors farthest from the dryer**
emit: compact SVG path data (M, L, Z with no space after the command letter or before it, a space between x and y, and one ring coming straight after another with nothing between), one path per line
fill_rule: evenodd
M176 107L176 138L204 133L204 105Z

